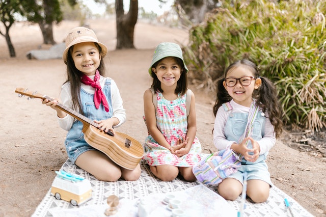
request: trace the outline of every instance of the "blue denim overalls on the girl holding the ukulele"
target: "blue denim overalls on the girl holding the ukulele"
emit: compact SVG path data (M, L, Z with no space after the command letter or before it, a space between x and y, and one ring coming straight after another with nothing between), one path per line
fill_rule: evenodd
M106 96L109 112L105 111L102 103L100 104L99 108L96 109L94 104L94 94L87 93L85 90L80 88L80 101L82 102L84 116L88 117L91 120L105 120L111 118L113 115L110 78L106 78L102 91ZM86 143L82 129L83 123L76 120L75 122L73 122L72 127L67 133L65 146L68 153L68 157L73 163L75 163L77 157L80 154L89 150L95 150Z

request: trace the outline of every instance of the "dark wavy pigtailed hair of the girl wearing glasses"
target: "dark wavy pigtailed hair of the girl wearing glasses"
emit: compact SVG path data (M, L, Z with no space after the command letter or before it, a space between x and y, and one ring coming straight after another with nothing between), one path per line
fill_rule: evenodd
M259 107L261 107L263 113L266 114L267 111L269 121L274 126L276 138L279 138L283 130L283 122L281 119L282 108L277 97L278 94L276 87L268 78L259 76L257 66L249 60L244 59L232 63L225 70L224 76L218 80L216 88L216 101L213 106L214 116L216 116L219 107L223 103L228 102L232 99L232 97L223 86L223 82L228 72L239 66L247 68L253 73L255 78L261 79L261 85L257 90L254 90L252 97L257 100L256 103L259 105Z

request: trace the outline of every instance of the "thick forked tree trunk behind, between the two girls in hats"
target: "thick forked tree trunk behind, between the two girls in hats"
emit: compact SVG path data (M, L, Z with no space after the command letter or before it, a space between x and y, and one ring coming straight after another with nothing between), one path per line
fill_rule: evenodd
M116 49L134 48L133 32L138 18L138 0L130 0L127 14L124 14L123 0L116 0L117 47Z

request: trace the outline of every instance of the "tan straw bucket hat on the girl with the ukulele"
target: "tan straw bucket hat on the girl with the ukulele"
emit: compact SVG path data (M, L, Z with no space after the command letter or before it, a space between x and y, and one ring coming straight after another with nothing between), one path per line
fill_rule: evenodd
M107 53L107 47L97 40L93 30L79 26L69 31L66 37L66 49L63 51L62 59L67 64L68 50L72 45L82 42L96 42L101 48L101 56L104 57Z

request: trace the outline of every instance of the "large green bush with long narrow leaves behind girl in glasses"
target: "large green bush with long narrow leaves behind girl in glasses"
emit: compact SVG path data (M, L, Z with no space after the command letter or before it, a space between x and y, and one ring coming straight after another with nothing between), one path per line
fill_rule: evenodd
M326 127L325 12L322 0L223 1L190 31L189 76L214 90L230 63L250 59L276 84L285 124Z

